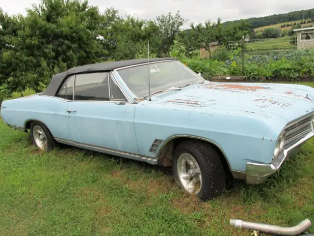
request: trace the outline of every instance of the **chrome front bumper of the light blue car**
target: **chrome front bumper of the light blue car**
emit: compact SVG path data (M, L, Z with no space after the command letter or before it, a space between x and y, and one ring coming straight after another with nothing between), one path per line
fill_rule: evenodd
M259 163L246 163L245 179L248 184L260 184L264 182L267 177L271 176L277 172L284 161L296 155L304 143L314 136L314 132L309 133L296 144L292 145L288 149L285 149L281 154L280 158L277 161L270 164L259 164Z

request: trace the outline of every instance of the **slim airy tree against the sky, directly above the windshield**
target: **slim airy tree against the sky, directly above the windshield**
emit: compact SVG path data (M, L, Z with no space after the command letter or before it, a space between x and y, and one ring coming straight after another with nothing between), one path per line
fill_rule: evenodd
M160 37L160 48L164 55L169 56L170 47L176 35L179 33L180 28L186 21L181 17L180 11L173 16L170 12L157 16L156 25L158 26L158 36Z

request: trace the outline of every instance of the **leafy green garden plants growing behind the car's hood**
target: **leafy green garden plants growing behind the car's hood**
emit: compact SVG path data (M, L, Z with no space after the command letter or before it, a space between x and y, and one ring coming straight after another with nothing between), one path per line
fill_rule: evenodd
M212 59L189 59L187 66L204 78L212 76L241 76L242 64L240 50L235 50L225 61ZM253 55L245 59L244 76L246 79L280 78L283 81L296 81L300 76L314 78L314 50L283 51L264 55Z

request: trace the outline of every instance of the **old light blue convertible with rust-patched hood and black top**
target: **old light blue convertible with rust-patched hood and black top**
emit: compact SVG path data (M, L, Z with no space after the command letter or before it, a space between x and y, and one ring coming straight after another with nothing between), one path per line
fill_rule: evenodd
M0 115L43 150L62 143L172 166L207 200L228 174L259 184L277 172L314 136L313 101L307 86L212 83L173 58L136 59L56 74L44 92L4 101Z

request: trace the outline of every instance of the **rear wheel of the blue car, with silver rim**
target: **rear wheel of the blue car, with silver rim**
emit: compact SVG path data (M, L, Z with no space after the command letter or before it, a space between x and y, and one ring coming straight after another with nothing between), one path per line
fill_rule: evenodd
M30 124L30 137L33 144L41 150L51 150L55 146L52 134L43 123L34 121Z

